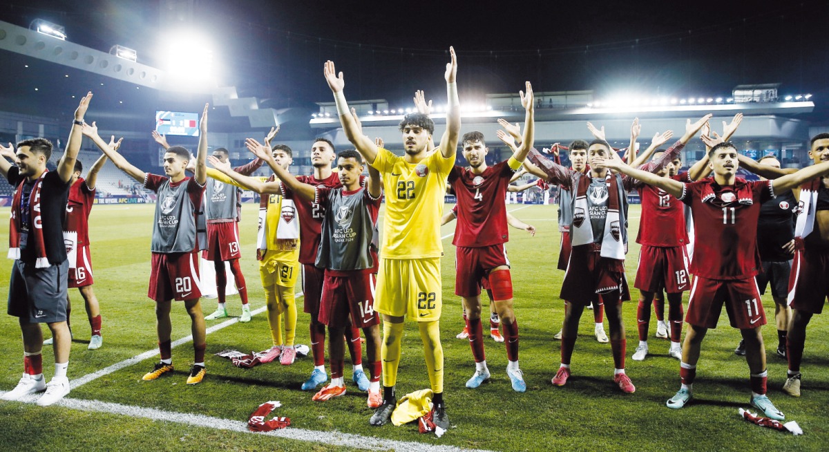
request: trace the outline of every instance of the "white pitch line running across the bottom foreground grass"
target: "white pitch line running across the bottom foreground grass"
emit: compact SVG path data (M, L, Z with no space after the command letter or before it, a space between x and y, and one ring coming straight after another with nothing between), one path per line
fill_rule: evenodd
M2 394L2 393L0 393ZM18 401L34 404L40 394L23 396ZM72 410L94 411L109 413L131 418L143 418L149 420L163 420L177 424L194 425L215 430L229 430L250 435L268 435L285 438L288 440L308 441L323 445L340 447L352 447L355 449L370 450L414 450L423 452L462 452L462 449L453 445L429 445L414 441L385 440L382 438L342 433L339 431L318 431L288 427L283 430L272 430L268 432L257 432L248 430L247 422L232 419L222 419L212 416L194 416L189 413L178 413L175 411L163 411L156 408L143 408L141 406L122 405L105 401L89 401L82 399L64 398L56 403L56 406L63 406ZM472 450L473 452L488 452L487 450Z

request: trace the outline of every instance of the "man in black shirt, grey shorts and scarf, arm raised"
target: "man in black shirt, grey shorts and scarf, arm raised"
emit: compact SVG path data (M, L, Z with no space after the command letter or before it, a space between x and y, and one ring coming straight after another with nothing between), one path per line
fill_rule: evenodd
M71 335L66 324L66 284L69 262L63 242L63 223L70 182L80 150L80 127L90 106L87 93L75 109L75 119L66 150L49 171L52 143L47 139L25 139L0 146L0 173L15 187L9 221L8 258L14 260L8 285L8 314L18 318L23 342L23 374L17 386L2 395L15 401L22 396L46 390L37 405L50 406L69 394ZM13 158L15 165L6 158ZM55 338L55 375L46 384L43 377L43 332L46 323Z

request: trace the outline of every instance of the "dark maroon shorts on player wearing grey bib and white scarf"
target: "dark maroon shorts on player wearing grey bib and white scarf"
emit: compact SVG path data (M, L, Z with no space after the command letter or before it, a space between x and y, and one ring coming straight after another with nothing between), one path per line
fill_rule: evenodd
M574 247L561 283L561 299L586 305L599 303L599 294L614 291L618 291L620 303L630 299L624 261L602 257L595 244ZM610 298L602 297L604 303L612 302Z

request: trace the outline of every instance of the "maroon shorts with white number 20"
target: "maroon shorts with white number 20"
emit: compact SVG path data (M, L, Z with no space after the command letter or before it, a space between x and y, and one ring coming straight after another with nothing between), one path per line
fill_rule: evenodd
M199 253L153 253L147 296L158 301L201 297Z

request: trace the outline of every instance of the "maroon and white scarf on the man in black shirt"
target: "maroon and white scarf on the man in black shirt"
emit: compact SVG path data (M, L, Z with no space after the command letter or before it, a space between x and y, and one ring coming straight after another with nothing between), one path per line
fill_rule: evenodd
M48 170L37 178L35 186L32 187L32 193L29 194L29 221L31 222L27 237L27 247L34 247L37 260L35 261L35 268L42 269L48 267L49 259L46 258L46 243L43 241L43 226L41 225L41 187L43 185L43 177L46 176ZM23 184L26 183L24 177L17 190L14 192L12 198L12 218L9 221L8 230L8 258L18 260L20 259L20 237L23 231L23 219L21 218L20 205L23 197Z

